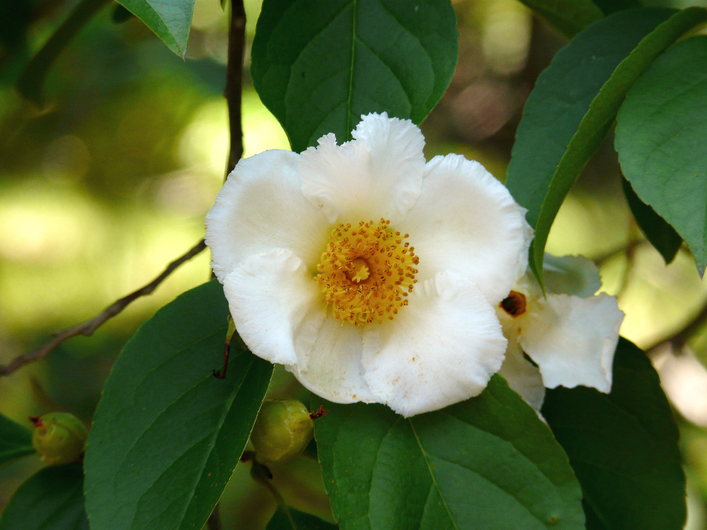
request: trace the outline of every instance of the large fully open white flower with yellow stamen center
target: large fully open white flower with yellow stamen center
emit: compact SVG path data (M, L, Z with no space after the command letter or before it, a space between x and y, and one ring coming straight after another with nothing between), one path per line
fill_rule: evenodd
M479 394L503 363L496 307L525 271L524 211L411 122L241 160L206 216L240 336L331 401L412 416Z

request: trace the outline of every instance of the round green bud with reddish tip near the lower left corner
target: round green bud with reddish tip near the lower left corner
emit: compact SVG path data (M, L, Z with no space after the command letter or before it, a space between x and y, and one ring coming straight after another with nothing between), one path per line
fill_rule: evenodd
M69 464L81 458L88 430L76 416L68 412L50 412L30 420L35 424L32 444L49 466Z

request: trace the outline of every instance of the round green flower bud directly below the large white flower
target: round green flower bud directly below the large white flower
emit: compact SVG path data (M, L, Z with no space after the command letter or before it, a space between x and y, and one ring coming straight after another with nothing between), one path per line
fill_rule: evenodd
M300 401L278 399L264 401L250 441L259 459L286 461L304 451L313 433L310 413Z

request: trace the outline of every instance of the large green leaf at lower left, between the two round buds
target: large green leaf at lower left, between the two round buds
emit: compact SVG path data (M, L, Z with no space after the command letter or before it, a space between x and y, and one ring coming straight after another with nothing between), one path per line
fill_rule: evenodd
M125 345L86 446L93 530L201 529L243 453L272 365L232 348L216 281L187 291Z

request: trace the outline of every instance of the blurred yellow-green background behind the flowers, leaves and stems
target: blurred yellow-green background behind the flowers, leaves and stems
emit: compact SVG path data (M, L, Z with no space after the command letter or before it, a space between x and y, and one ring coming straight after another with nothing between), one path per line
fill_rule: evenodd
M223 182L227 35L219 2L196 1L186 60L107 4L49 70L40 109L13 86L76 4L0 0L0 364L151 281L203 237L204 215ZM245 4L250 41L260 0ZM503 179L534 79L566 40L517 0L454 4L460 62L422 124L426 155L463 153ZM243 131L246 156L288 148L247 73ZM621 192L611 141L561 208L548 250L594 259L604 290L618 296L626 312L621 334L648 351L681 428L688 527L707 528L707 290L686 249L666 266L645 243ZM202 252L92 337L72 338L46 360L1 377L0 413L28 425L29 416L65 410L89 423L122 344L209 275ZM284 373L276 382L279 394L298 391ZM0 468L0 510L40 466L28 457ZM315 461L274 471L293 505L326 516ZM257 529L272 510L268 490L240 464L221 503L224 528Z

